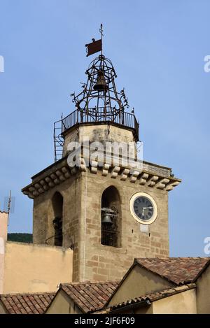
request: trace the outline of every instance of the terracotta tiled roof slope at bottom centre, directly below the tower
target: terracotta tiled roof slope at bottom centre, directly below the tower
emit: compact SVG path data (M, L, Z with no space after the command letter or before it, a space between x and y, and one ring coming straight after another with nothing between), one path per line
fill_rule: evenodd
M71 297L83 313L96 311L106 304L111 294L116 290L118 281L103 283L62 283L61 290Z

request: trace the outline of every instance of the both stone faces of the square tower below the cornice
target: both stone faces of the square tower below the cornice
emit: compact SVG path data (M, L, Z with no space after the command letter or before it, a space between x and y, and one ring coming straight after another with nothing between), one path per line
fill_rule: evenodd
M121 248L101 244L102 194L111 185L120 194ZM55 192L64 198L63 247L73 248L73 281L116 280L123 277L134 257L169 255L167 191L122 181L120 176L102 176L100 170L97 174L89 169L78 172L34 199L34 243L53 245L51 199ZM130 213L130 198L136 192L147 192L158 205L158 218L148 233L140 231Z

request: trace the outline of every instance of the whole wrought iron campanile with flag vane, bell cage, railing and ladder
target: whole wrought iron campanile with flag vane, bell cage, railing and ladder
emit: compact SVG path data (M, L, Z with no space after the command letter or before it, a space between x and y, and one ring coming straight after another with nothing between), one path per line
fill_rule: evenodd
M102 50L97 44L98 41L93 41L88 45L90 54ZM55 162L62 157L64 132L78 124L117 124L132 129L135 141L139 140L139 124L133 110L132 113L125 111L130 106L124 89L120 92L116 89L117 75L111 60L101 53L85 73L87 82L83 83L83 90L78 95L71 94L76 110L54 124Z

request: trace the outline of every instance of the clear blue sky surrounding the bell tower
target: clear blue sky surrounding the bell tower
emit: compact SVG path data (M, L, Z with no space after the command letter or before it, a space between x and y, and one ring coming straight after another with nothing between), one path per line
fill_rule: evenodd
M183 183L169 192L171 256L204 256L209 224L208 0L0 0L0 208L15 196L9 231L32 231L30 177L52 164L53 122L74 109L85 43L99 37L118 90L134 106L144 159L172 167Z

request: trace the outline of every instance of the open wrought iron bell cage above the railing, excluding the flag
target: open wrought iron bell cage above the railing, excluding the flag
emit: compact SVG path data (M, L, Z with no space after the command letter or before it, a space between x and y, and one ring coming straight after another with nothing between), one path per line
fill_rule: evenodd
M117 92L116 71L109 59L99 55L86 71L87 83L77 96L73 94L80 122L117 122L124 124L125 107L129 108L124 90Z

